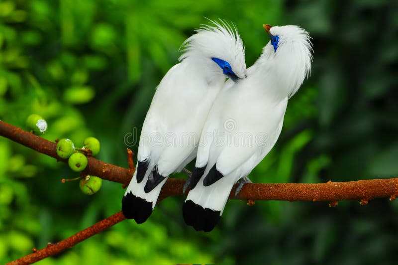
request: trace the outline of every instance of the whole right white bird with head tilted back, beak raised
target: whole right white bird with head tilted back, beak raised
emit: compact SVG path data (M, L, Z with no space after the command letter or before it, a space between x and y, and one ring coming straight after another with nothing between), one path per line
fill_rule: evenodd
M184 220L197 231L211 231L233 185L245 179L268 154L282 130L288 99L308 76L312 44L293 25L264 25L270 42L247 69L248 77L227 82L201 134Z

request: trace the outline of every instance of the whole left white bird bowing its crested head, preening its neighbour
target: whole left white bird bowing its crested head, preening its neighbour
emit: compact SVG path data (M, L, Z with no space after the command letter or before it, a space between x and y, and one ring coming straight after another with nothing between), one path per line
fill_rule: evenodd
M160 190L173 172L197 154L200 133L226 77L246 78L245 50L236 27L211 21L182 45L180 63L163 77L146 115L134 176L122 211L137 224L151 215Z

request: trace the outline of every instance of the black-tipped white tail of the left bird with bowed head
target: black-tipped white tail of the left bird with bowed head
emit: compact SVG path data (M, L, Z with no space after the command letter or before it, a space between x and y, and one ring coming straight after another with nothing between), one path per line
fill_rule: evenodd
M165 179L167 177L159 175L156 167L155 170L148 170L144 163L138 162L137 170L121 201L124 216L134 219L137 224L144 223L152 214Z

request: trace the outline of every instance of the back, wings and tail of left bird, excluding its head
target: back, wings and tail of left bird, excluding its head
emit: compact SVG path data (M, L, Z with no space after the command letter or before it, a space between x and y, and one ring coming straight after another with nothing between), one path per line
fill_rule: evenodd
M162 79L142 127L136 172L123 197L127 218L144 222L167 177L195 158L205 118L222 84L220 79L209 85L187 61Z

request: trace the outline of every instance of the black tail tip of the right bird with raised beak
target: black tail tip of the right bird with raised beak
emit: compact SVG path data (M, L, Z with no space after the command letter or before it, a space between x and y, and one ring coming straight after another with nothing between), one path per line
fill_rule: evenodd
M187 225L196 231L210 232L220 220L220 211L203 208L191 200L183 204L183 216Z

